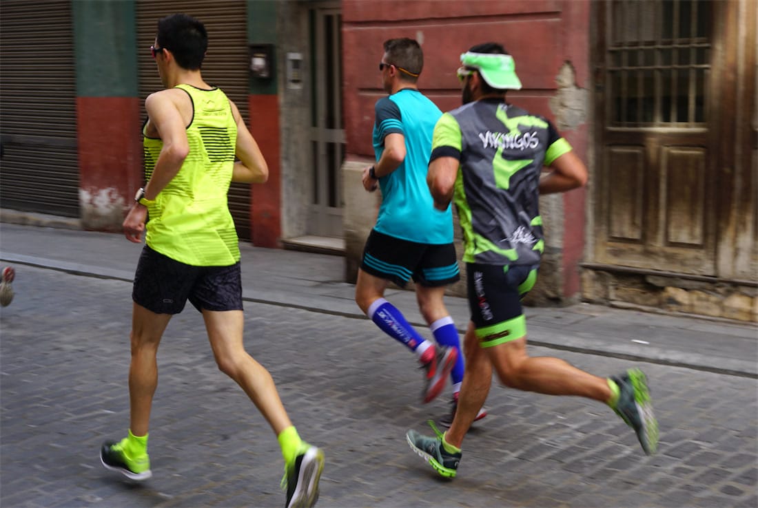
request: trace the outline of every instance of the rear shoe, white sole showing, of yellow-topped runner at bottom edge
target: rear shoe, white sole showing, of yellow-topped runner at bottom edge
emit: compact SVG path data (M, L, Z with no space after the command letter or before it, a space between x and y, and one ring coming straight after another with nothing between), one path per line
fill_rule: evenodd
M310 508L318 500L318 480L324 469L324 452L304 444L293 463L284 468L282 488L287 487L287 508Z

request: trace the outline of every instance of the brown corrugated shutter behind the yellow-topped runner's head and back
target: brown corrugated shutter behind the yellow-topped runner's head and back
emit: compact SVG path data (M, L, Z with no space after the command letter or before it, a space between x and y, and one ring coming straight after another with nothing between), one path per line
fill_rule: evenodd
M208 0L168 0L136 3L137 43L139 44L139 95L146 98L163 88L150 45L155 42L158 20L183 12L196 17L208 30L208 55L202 64L207 83L223 89L234 101L247 121L248 111L248 48L246 2L208 2ZM145 115L143 102L143 118ZM229 190L229 208L240 239L250 235L250 185L233 183Z

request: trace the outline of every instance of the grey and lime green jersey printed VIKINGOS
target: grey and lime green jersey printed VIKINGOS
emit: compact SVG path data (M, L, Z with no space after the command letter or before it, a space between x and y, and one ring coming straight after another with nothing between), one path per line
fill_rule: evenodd
M549 120L499 99L471 102L440 117L431 161L460 161L453 201L466 263L540 263L540 171L571 149Z

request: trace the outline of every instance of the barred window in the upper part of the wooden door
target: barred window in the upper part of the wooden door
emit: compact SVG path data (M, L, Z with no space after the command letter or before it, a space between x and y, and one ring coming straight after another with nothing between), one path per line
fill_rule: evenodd
M702 126L712 2L612 0L606 12L609 125Z

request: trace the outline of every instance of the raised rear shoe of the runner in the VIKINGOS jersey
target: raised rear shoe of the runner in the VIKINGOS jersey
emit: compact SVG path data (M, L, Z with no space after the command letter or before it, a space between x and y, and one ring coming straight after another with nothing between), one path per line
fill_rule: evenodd
M647 378L640 369L628 369L611 379L620 390L613 410L637 433L644 452L653 455L658 449L658 422L653 414Z

